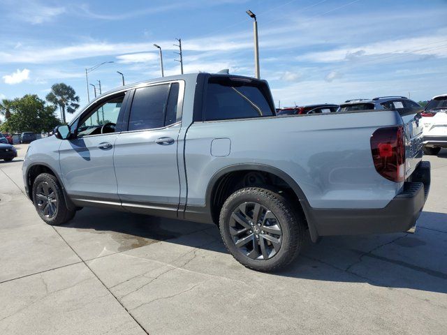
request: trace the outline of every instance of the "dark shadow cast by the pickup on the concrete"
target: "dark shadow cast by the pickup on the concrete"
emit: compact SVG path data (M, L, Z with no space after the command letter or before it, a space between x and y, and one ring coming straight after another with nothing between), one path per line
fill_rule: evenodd
M424 223L431 221L447 223L447 214L424 212L423 223L420 225L424 226ZM228 253L219 238L217 228L212 224L85 208L64 227L110 234L115 241L123 244L120 251L157 241L169 241ZM203 244L199 237L195 239L194 233L203 230L211 232L211 243ZM427 237L426 232L434 233L434 237L433 234ZM433 240L437 238L437 234L439 239ZM188 238L184 238L186 235ZM128 239L132 241L132 245L126 244ZM444 250L444 254L437 255L437 249L432 246ZM439 266L433 266L445 262L446 247L446 232L430 228L420 228L420 233L416 232L414 235L398 233L327 237L319 244L308 241L298 259L275 275L447 293L447 264L440 267L441 271ZM386 248L390 248L390 251ZM309 265L309 261L312 265ZM322 271L321 268L325 270Z

